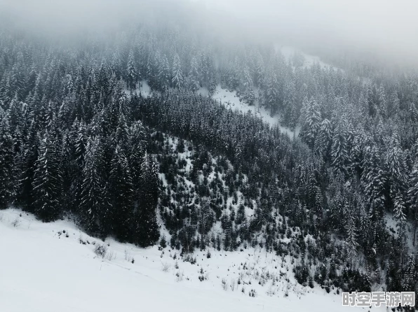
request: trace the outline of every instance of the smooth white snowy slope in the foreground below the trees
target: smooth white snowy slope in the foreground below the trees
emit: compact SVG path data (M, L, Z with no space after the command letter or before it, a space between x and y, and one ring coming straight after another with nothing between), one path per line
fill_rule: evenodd
M112 239L102 258L93 251L99 243L69 221L0 211L0 311L360 311L343 307L334 290L295 284L288 264L262 250L198 252L191 264L178 250Z

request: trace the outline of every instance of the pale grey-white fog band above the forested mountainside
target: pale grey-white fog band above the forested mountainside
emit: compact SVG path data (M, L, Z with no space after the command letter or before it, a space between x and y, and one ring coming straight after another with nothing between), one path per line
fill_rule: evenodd
M227 38L367 52L414 66L417 11L414 0L0 0L3 20L39 34L106 32L129 21L172 19Z

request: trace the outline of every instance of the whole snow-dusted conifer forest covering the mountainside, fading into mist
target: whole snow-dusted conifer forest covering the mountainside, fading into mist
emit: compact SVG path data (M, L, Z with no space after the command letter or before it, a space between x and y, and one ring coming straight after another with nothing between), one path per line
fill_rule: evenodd
M260 245L297 259L300 283L416 290L417 78L305 68L301 55L187 34L142 27L65 48L1 34L1 208L71 213L149 246L159 207L184 252ZM142 80L149 97L133 92ZM218 84L299 137L196 94Z

